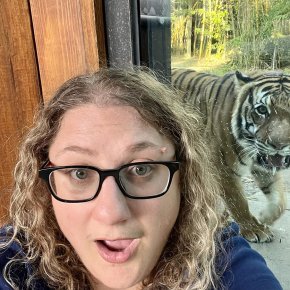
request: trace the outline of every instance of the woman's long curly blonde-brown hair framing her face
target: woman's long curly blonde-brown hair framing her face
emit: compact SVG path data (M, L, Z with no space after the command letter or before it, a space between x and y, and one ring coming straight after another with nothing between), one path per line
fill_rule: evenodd
M10 205L13 235L9 243L21 243L26 255L20 262L37 265L27 285L42 277L54 289L91 288L90 274L62 234L49 191L38 177L64 114L84 104L135 108L174 143L181 161L180 212L158 263L143 281L144 288L216 289L220 187L202 137L202 121L182 103L178 91L143 68L102 69L75 77L60 87L36 117L20 149ZM9 264L5 277L13 285Z

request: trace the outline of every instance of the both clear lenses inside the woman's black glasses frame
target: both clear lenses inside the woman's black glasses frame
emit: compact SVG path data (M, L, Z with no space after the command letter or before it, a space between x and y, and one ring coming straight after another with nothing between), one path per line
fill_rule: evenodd
M133 197L155 196L163 193L170 180L170 170L164 164L128 165L119 171L119 182ZM49 177L55 195L64 200L90 199L99 190L100 174L89 168L63 168Z

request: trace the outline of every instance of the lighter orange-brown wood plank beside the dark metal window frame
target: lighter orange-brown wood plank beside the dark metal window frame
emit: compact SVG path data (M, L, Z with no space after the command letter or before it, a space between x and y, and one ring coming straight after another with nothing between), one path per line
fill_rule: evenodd
M99 68L93 0L30 0L45 100L74 75Z

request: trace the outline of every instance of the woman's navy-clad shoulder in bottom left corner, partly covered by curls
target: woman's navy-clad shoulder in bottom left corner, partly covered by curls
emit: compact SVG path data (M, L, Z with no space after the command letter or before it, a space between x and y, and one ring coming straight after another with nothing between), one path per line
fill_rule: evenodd
M13 282L20 287L19 289L26 289L23 287L25 287L26 281L32 275L33 265L25 261L25 253L19 242L9 242L9 237L12 234L12 227L0 228L0 289L13 289L4 278L4 271L9 273ZM44 281L37 279L33 283L33 289L45 290L49 288L46 287Z

